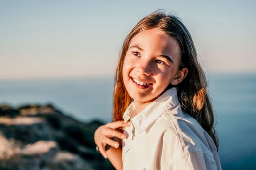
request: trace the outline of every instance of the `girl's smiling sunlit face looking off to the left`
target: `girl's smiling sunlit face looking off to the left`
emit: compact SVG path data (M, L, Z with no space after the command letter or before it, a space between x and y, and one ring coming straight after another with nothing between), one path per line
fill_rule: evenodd
M180 48L157 28L135 35L123 64L123 81L135 106L153 102L169 84L179 80Z

